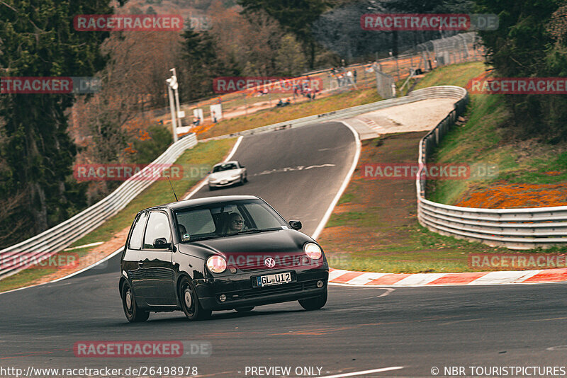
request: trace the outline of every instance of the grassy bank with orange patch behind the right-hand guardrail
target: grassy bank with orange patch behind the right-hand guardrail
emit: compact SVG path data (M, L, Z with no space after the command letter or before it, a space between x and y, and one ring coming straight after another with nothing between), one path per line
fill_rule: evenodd
M471 95L466 123L452 128L430 160L468 164L471 179L429 181L427 198L466 207L567 205L567 144L514 135L503 95Z

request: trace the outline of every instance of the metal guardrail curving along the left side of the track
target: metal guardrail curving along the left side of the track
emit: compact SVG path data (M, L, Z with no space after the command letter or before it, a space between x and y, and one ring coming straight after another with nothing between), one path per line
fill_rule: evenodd
M62 251L63 248L72 244L73 241L89 234L89 232L103 224L106 219L126 207L131 200L157 180L157 178L150 179L146 177L142 180L137 179L152 169L152 165L173 164L186 149L194 147L196 144L197 138L195 134L189 134L179 139L179 141L169 146L163 154L158 156L155 161L152 161L150 166L142 169L128 181L125 181L103 200L96 202L95 205L86 208L79 214L57 224L57 226L51 229L43 231L41 234L2 249L0 251L0 278L18 273L18 271L30 264L30 260L38 262L48 258Z

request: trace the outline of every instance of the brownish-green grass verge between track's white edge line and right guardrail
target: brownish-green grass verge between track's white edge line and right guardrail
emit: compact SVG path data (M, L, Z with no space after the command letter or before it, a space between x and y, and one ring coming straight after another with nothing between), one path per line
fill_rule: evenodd
M332 268L383 273L473 271L471 253L509 252L435 234L417 222L415 182L368 180L361 166L417 160L425 132L386 135L362 142L357 170L318 241Z

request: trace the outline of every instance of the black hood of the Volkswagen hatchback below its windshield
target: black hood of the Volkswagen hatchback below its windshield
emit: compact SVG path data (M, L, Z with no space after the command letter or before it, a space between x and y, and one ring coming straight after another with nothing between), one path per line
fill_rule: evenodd
M218 239L180 244L181 252L208 258L219 254L230 268L240 270L292 268L305 264L303 244L313 242L309 236L291 229L264 231L257 234L240 234ZM274 259L274 266L266 266L266 258ZM324 258L320 259L322 263ZM311 264L312 262L309 261Z

